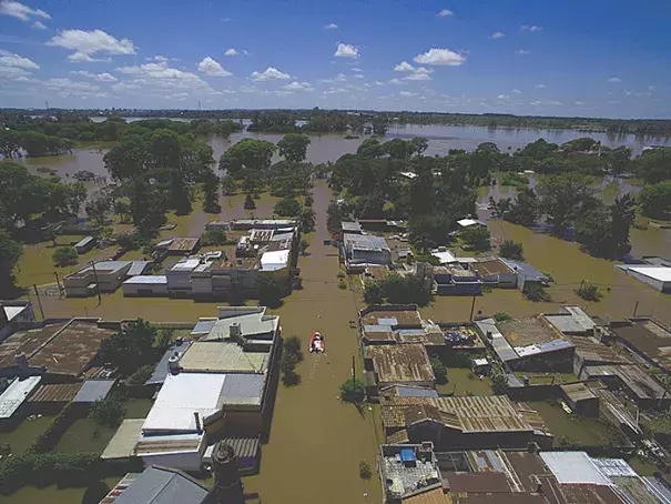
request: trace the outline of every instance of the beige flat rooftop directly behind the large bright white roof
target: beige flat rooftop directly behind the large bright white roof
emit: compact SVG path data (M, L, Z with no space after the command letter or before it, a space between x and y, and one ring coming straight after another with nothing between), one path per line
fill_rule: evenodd
M261 374L268 369L268 357L266 352L245 352L235 342L195 341L180 359L180 367L185 372Z

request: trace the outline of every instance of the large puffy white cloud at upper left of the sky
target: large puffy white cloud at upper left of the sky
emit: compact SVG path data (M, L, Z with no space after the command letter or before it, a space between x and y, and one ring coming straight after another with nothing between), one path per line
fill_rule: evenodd
M130 39L115 39L102 30L64 30L53 37L47 46L71 49L75 51L68 59L75 62L94 61L95 53L103 54L135 54L135 46Z

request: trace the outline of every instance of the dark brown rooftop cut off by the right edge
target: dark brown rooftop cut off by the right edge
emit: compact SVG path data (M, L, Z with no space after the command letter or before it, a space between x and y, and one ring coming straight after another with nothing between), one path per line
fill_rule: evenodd
M671 367L671 332L652 319L612 323L611 331L663 367Z

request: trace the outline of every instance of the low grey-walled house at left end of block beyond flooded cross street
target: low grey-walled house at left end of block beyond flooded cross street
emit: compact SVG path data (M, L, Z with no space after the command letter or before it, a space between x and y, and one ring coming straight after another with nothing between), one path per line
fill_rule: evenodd
M69 298L85 298L100 292L114 292L124 280L143 274L149 261L101 261L88 264L63 279Z

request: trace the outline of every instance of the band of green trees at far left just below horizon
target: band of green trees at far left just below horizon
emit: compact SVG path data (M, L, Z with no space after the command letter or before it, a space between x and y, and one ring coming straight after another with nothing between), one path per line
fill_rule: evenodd
M31 117L16 111L0 112L0 153L6 158L60 155L72 152L74 141L119 141L125 134L170 130L182 135L222 135L242 131L242 125L221 119L173 121L146 119L126 122L120 115L109 115L94 122L81 113L58 113Z

